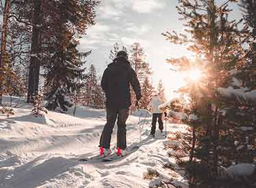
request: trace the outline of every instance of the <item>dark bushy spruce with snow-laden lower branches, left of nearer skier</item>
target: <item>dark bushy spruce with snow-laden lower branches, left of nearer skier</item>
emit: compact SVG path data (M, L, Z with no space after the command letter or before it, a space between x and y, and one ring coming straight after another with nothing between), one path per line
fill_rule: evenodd
M49 87L46 107L49 110L61 108L62 112L66 112L73 106L68 95L75 93L81 87L77 80L86 79L86 74L84 74L85 68L81 68L84 62L80 59L73 34L63 28L57 35L57 41L58 43L52 48L54 55L51 66L45 66L44 76Z

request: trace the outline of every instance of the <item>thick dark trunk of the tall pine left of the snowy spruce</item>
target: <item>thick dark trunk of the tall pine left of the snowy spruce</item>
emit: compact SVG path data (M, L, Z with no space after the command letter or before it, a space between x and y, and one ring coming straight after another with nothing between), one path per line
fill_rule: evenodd
M38 52L40 49L39 35L40 35L40 10L41 1L34 0L34 16L33 16L33 29L32 29L32 43L31 43L31 57L29 64L29 80L27 90L27 103L33 101L33 96L38 95L40 61L38 59Z

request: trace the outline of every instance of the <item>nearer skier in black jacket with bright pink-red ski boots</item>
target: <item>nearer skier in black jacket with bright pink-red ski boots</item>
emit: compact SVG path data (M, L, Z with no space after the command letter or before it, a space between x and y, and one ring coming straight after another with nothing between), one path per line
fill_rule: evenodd
M131 68L127 52L117 53L113 63L107 66L101 80L101 88L106 95L107 123L101 134L100 155L110 155L110 140L117 118L117 155L126 154L126 125L131 106L130 84L136 93L136 99L142 97L140 82L136 72Z

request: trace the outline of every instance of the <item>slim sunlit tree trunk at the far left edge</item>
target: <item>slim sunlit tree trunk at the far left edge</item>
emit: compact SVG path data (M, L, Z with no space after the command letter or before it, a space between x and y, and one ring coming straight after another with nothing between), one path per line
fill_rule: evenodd
M1 56L0 56L0 76L3 74L3 70L5 69L5 59L7 58L6 54L6 38L8 33L8 20L9 20L9 14L10 14L10 7L11 7L11 1L5 0L5 6L3 10L3 27L1 32ZM0 105L2 104L2 98L3 98L3 80L0 78ZM4 78L3 78L4 79Z

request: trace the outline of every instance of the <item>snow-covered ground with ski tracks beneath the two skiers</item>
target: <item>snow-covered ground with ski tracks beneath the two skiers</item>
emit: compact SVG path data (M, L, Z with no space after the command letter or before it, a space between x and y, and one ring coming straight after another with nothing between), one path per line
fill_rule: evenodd
M127 121L127 144L140 146L116 161L79 162L99 153L99 137L105 124L105 110L79 107L77 117L49 112L43 118L31 115L31 108L14 108L15 115L0 115L0 187L149 187L157 179L144 179L148 169L166 178L181 179L164 163L174 163L164 149L166 138L157 131L149 137L150 118L139 136L138 113ZM69 112L72 114L72 112ZM168 124L168 131L185 129ZM116 129L112 148L116 143Z

